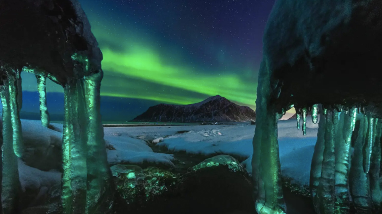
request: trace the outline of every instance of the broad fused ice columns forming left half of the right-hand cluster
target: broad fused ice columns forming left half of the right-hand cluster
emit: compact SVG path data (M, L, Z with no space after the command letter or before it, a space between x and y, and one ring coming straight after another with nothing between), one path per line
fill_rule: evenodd
M332 121L336 111L320 118L310 178L313 204L319 214L349 211L347 175L356 109L351 112L353 116L342 112L337 125Z

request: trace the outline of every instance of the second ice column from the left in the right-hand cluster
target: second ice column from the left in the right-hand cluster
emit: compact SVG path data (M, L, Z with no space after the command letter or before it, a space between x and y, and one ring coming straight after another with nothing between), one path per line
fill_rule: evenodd
M322 160L322 169L320 184L317 190L317 195L320 202L320 213L330 214L334 212L334 201L335 198L335 152L334 152L334 142L335 142L335 125L332 121L333 111L327 112L325 115L325 149Z

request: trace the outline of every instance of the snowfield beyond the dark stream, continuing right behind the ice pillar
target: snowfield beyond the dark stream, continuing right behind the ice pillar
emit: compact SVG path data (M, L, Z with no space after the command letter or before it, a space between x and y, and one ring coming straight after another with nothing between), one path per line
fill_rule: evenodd
M171 128L169 128L171 127ZM301 121L302 127L302 121ZM252 173L252 139L254 125L206 125L206 126L151 126L105 128L108 136L120 137L151 136L160 141L159 146L170 151L185 151L193 154L228 154L248 158L243 161L247 171ZM311 160L317 139L318 123L307 118L307 135L296 129L295 120L278 122L278 142L283 176L299 184L309 184ZM176 134L178 131L189 131ZM127 138L126 138L127 139ZM155 141L155 140L154 140ZM111 141L112 142L112 141Z

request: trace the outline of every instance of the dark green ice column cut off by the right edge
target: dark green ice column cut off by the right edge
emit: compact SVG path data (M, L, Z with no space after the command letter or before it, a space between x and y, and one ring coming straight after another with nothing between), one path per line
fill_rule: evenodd
M381 166L381 136L382 136L382 123L381 120L376 118L375 138L372 147L371 160L370 160L370 190L372 203L374 208L380 210L382 206L382 166Z

